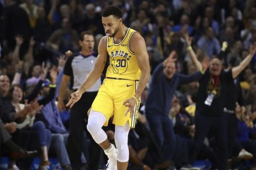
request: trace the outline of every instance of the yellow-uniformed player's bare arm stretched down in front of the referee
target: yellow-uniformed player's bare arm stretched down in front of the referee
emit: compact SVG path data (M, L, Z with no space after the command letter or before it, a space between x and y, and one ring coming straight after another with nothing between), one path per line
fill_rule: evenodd
M86 76L83 84L78 88L77 91L71 94L71 98L66 106L72 107L83 95L83 93L89 89L100 77L104 69L107 60L107 47L106 47L107 36L101 38L98 46L98 57L96 59L93 70Z

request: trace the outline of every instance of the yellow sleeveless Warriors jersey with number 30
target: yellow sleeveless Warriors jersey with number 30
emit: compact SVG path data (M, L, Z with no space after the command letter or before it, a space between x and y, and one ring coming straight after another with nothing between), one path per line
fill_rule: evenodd
M116 44L114 37L107 36L107 52L109 63L106 77L116 79L139 80L141 71L137 63L136 54L129 48L129 42L134 32L128 28L124 38Z

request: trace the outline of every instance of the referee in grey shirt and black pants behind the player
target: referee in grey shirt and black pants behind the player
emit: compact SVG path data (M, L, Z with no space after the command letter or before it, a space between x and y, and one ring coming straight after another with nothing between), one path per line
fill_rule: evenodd
M84 82L85 77L91 72L95 64L97 55L93 52L94 37L92 33L86 31L82 32L79 39L79 45L82 47L82 51L77 55L69 57L64 67L64 75L58 97L58 108L61 112L65 110L63 96L69 83L71 83L70 88L76 91ZM81 155L84 127L87 123L85 120L88 118L87 111L91 107L100 85L101 80L98 79L97 82L83 94L81 100L71 108L67 148L73 169L81 169L83 166ZM90 139L92 138L90 137ZM94 140L91 140L89 152L89 169L97 169L99 165L100 147Z

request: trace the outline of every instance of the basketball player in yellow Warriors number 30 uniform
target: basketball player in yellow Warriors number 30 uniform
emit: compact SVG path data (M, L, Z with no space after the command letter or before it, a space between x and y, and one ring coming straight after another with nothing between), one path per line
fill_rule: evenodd
M134 111L150 77L149 59L145 40L140 33L123 24L122 12L118 7L106 7L102 11L102 23L106 36L100 40L94 69L82 86L71 94L67 106L72 107L99 79L108 54L110 65L90 109L87 130L108 156L107 169L123 170L127 169L129 160L127 138L130 128L134 127ZM113 115L117 149L102 130Z

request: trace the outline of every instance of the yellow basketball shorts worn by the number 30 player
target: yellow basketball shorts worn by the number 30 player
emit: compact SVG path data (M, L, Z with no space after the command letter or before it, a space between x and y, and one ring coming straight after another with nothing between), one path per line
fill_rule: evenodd
M139 81L118 79L103 81L91 109L106 116L104 126L108 125L109 118L113 115L113 124L123 126L128 121L131 126L130 113L125 116L128 107L123 103L134 96L138 83Z

